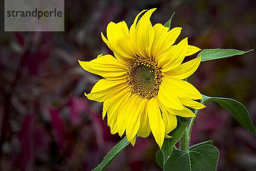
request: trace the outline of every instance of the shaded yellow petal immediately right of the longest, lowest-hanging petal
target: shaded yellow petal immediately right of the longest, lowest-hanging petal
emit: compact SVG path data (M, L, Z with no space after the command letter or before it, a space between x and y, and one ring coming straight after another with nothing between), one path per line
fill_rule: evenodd
M177 118L175 115L169 113L166 108L161 104L157 97L157 104L162 111L162 118L165 125L165 133L168 134L177 127Z

